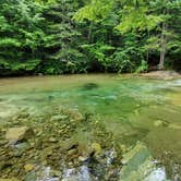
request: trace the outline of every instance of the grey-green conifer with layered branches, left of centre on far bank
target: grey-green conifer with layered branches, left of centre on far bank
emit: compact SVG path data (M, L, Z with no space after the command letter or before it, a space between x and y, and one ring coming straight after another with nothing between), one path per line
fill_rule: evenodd
M49 74L81 72L83 55L79 51L80 32L72 16L79 3L72 0L58 0L44 9L46 44L43 71Z

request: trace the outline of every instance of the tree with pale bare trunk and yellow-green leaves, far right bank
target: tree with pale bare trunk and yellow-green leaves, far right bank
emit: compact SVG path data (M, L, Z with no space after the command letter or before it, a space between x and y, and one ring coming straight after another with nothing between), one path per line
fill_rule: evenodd
M165 68L166 53L171 48L169 44L176 45L174 29L171 26L172 21L176 21L176 9L180 12L180 8L179 1L157 0L149 1L149 3L137 1L136 7L123 8L122 22L117 28L122 33L133 31L141 34L141 31L147 31L149 44L145 44L145 48L159 50L158 69L161 70ZM152 34L154 36L150 36Z

